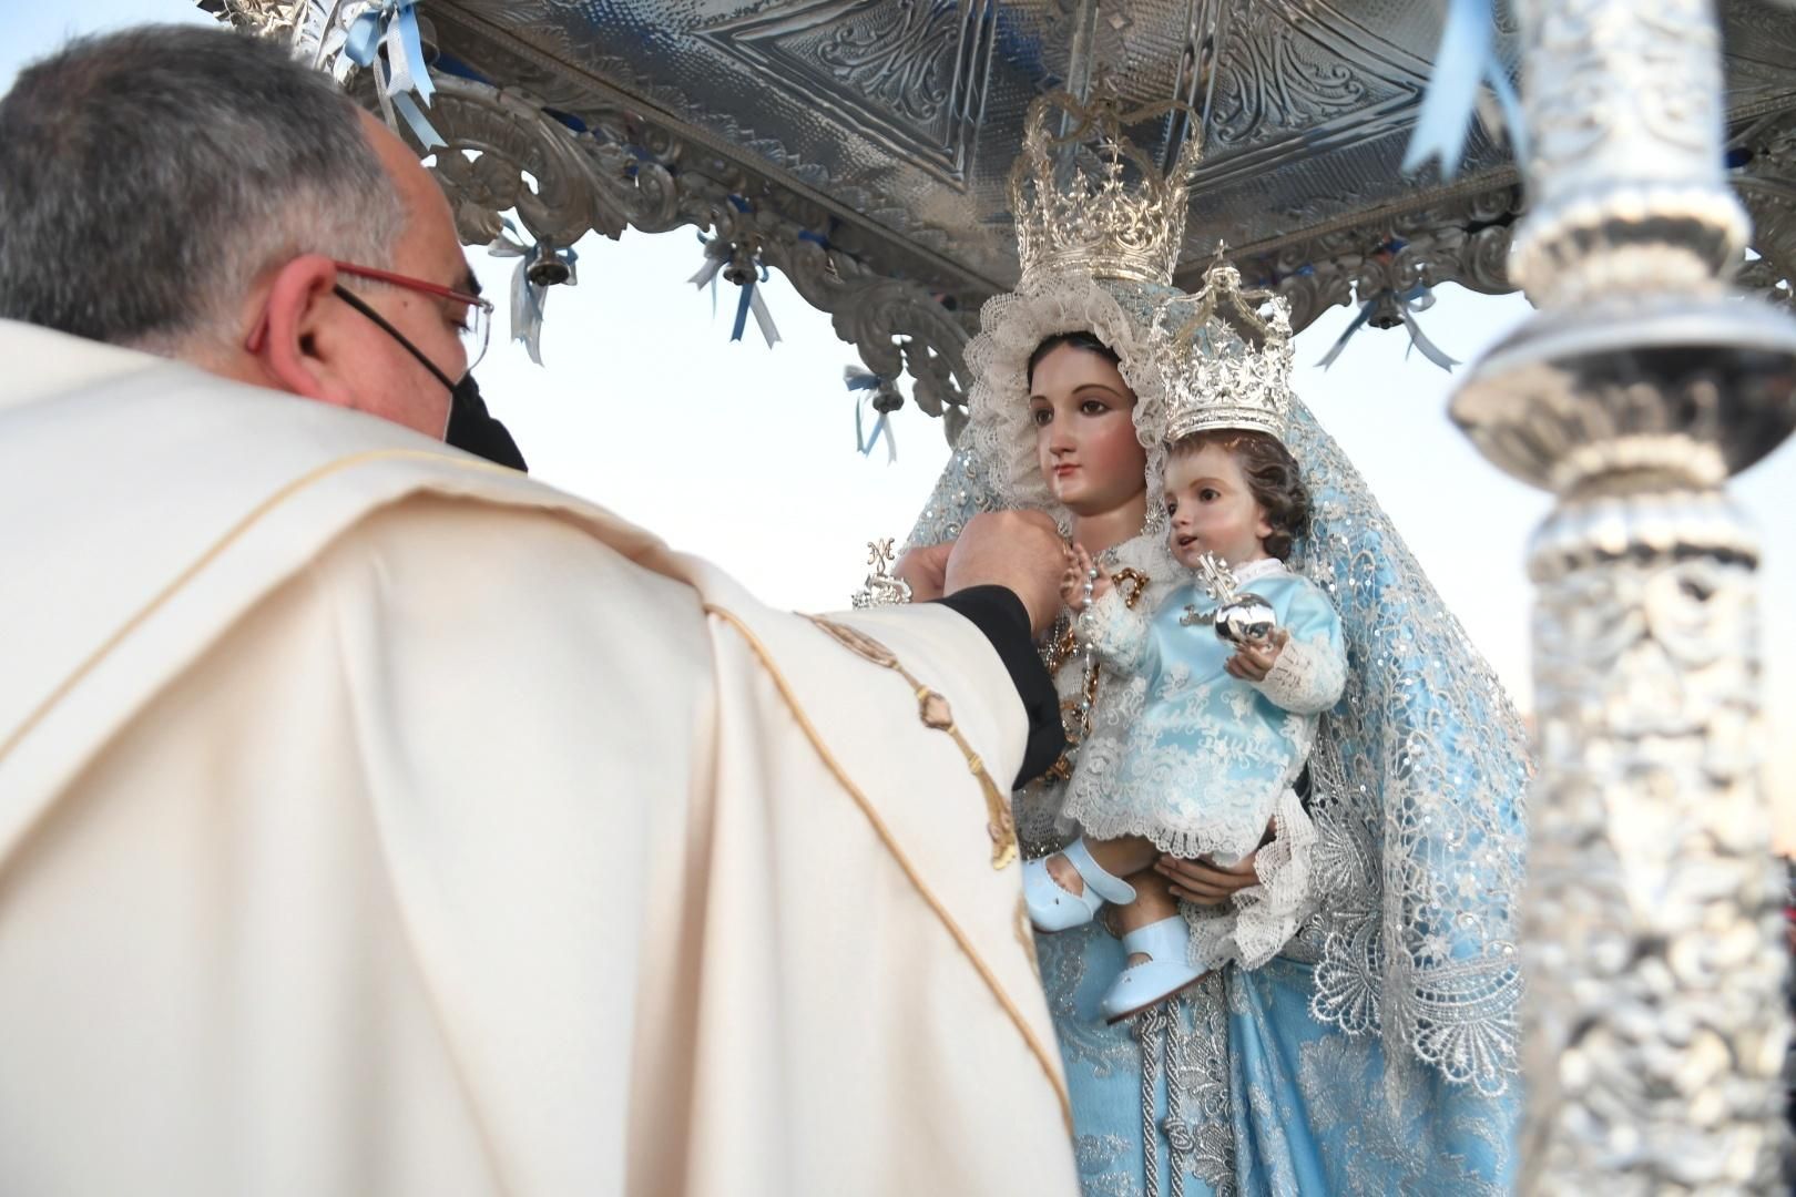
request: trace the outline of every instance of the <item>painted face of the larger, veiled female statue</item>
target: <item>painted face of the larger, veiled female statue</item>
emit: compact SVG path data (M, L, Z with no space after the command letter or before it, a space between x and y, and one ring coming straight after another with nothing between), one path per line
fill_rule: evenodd
M1029 388L1036 461L1074 515L1114 511L1148 488L1133 409L1135 391L1103 354L1060 345L1036 363Z

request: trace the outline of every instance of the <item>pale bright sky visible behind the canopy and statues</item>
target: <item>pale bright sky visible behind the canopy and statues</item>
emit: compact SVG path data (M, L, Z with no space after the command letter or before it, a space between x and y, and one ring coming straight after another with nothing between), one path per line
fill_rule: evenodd
M210 22L181 0L0 0L0 88L70 32L147 20ZM858 364L830 318L774 275L767 303L783 341L753 328L729 341L735 287L711 298L686 278L700 266L695 230L587 237L580 280L550 293L542 366L510 345L505 296L515 258L469 248L499 301L480 384L532 472L708 556L769 603L835 608L866 574L866 542L903 538L948 456L941 424L914 406L893 422L898 459L855 450L855 400L842 366ZM1295 386L1360 467L1442 598L1491 659L1518 705L1532 705L1528 537L1552 506L1545 492L1487 463L1448 420L1457 375L1406 354L1401 330L1365 328L1327 371L1318 361L1354 309L1322 314L1297 341ZM1430 339L1471 363L1530 314L1519 294L1440 287L1419 319ZM1464 373L1460 370L1458 373ZM1796 847L1796 449L1780 447L1730 494L1764 542L1771 786L1780 840Z

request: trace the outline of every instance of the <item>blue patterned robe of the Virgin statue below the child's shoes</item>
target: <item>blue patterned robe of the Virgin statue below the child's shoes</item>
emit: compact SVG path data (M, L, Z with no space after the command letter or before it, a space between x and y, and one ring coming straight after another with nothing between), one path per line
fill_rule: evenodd
M1036 953L1088 1197L1509 1192L1519 1095L1413 1059L1390 1071L1378 1035L1316 1023L1302 944L1115 1027L1097 1009L1124 964L1115 937L1094 922L1038 935Z

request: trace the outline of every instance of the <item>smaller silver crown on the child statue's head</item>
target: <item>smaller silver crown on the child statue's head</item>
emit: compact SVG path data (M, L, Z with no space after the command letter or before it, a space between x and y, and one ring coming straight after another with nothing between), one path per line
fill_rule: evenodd
M1291 416L1291 307L1243 291L1241 271L1218 260L1189 301L1160 309L1149 332L1166 388L1166 438L1254 429L1284 440Z

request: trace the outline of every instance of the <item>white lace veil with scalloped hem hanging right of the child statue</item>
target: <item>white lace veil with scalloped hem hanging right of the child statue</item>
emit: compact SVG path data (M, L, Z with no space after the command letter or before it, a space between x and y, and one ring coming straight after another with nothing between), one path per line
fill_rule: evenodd
M1387 1048L1498 1095L1518 1073L1527 730L1302 404L1286 441L1313 501L1293 565L1327 589L1349 662L1309 756L1324 896L1300 933L1318 958L1311 1012L1381 1028Z

